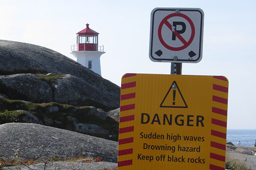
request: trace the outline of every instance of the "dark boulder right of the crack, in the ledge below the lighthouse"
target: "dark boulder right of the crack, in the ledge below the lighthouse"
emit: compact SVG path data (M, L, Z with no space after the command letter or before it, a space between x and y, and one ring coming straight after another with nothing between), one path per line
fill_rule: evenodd
M119 107L119 102L106 96L102 91L91 86L84 79L73 75L66 75L56 79L51 84L54 91L53 101L69 105L94 106L96 108L107 108L106 110Z

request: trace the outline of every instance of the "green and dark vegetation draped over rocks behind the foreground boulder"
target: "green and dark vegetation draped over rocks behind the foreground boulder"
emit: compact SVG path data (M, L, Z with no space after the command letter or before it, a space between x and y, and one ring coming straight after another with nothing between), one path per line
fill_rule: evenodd
M56 102L37 104L32 102L24 102L21 100L10 100L2 98L0 98L0 106L0 124L22 122L19 119L20 116L18 115L23 114L24 112L17 111L22 110L28 111L29 113L37 116L44 125L46 121L45 119L51 119L52 124L50 126L74 131L75 127L73 127L73 122L71 122L69 119L69 116L73 116L77 119L77 123L99 125L113 134L112 137L95 134L88 135L118 141L119 123L109 117L105 119L91 114L91 107L85 106L76 108L71 105L64 105ZM58 108L58 110L49 111L49 109L53 107Z

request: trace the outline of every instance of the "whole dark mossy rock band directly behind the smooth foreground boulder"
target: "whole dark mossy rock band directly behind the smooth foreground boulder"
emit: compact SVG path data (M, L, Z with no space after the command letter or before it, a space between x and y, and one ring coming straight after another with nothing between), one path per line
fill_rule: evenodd
M118 140L119 122L108 112L93 106L74 107L55 102L35 104L3 98L0 98L0 106L0 124L36 123L114 141Z

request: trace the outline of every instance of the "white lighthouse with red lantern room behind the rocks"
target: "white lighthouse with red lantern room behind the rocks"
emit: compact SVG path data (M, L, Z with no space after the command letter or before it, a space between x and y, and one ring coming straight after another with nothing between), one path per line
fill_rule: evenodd
M76 62L101 75L100 56L104 54L104 46L98 46L98 35L96 31L86 28L76 33L76 45L71 45L71 52Z

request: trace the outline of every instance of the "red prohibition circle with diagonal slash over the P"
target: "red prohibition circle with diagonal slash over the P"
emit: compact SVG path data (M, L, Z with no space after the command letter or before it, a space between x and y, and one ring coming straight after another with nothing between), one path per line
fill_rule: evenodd
M169 18L171 17L183 17L185 20L187 20L189 22L189 25L191 26L191 36L189 38L189 41L186 41L176 30L175 31L172 31L172 25L167 21L169 20ZM166 44L166 42L164 42L163 40L163 37L162 37L162 28L163 28L163 25L166 25L175 35L176 37L184 44L180 47L172 47L172 46L169 46L168 44ZM161 42L161 44L169 49L169 50L172 50L172 51L180 51L180 50L183 50L185 48L187 48L191 42L193 41L195 37L195 26L194 26L194 23L192 22L192 20L186 16L185 14L169 14L167 15L160 23L159 27L158 27L158 38Z

